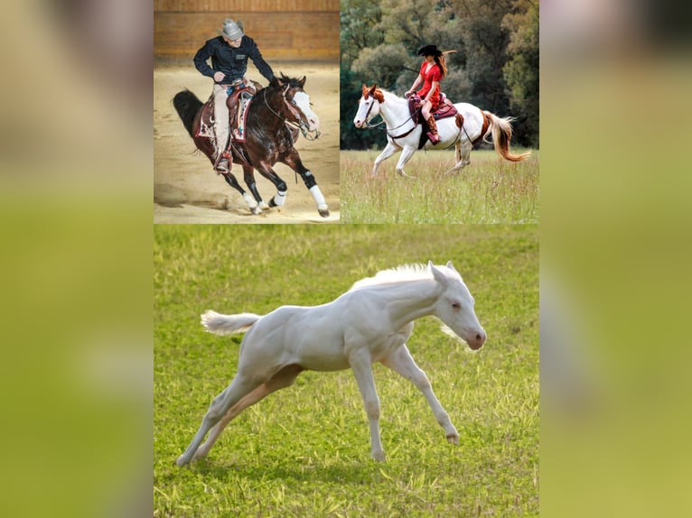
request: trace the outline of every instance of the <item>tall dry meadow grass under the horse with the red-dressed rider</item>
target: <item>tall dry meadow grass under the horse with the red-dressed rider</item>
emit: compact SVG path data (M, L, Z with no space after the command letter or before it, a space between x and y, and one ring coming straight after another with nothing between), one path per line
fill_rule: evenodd
M416 180L397 175L400 153L371 179L379 153L341 152L342 223L538 223L538 150L522 162L474 150L471 163L450 176L454 149L419 151L404 168Z

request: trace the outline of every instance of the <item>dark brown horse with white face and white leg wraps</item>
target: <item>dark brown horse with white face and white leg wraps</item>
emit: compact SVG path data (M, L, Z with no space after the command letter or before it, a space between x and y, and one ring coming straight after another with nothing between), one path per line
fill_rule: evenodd
M232 188L238 190L253 214L259 214L262 208L284 205L287 186L273 169L276 162L283 162L301 176L305 187L313 195L320 216L329 216L329 208L317 181L313 173L303 165L294 146L298 129L305 137L310 134L314 134L312 138L319 136L320 122L310 107L310 97L304 92L304 84L305 77L291 79L282 75L281 78L274 79L267 88L259 89L247 107L245 142L230 142L232 160L242 166L244 180L252 196L240 187L231 172L222 176ZM216 141L213 131L208 127L209 121L205 121L202 116L205 111L213 114L210 103L211 100L203 105L187 89L173 97L173 106L182 119L182 124L197 148L213 164L217 155ZM276 195L269 200L268 206L257 191L256 169L276 186Z

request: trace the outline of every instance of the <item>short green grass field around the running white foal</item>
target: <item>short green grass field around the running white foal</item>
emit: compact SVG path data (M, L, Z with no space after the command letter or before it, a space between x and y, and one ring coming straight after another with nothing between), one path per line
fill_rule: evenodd
M393 180L390 180L393 181ZM488 333L472 352L420 319L408 346L460 433L374 366L387 462L350 370L306 372L174 465L236 371L204 310L332 301L399 264L452 260ZM538 516L538 226L154 226L154 516Z

